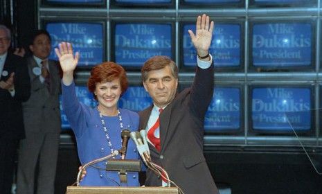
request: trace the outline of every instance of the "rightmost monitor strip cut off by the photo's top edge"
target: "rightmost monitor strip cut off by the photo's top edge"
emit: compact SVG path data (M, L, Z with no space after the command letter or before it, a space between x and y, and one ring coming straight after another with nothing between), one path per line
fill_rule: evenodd
M249 5L265 7L307 7L316 6L316 0L250 0Z

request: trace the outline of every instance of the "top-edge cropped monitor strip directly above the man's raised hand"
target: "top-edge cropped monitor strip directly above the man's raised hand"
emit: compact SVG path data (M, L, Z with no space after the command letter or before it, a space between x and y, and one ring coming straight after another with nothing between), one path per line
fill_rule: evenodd
M244 6L244 0L181 0L182 6Z

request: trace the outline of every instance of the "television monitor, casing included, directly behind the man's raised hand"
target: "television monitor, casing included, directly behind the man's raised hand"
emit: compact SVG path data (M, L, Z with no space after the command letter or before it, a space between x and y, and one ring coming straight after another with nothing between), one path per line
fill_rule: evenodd
M195 24L181 24L181 69L195 70L197 53L191 42L188 30L195 32ZM238 21L217 21L213 30L211 55L216 70L240 70L244 66L243 26Z

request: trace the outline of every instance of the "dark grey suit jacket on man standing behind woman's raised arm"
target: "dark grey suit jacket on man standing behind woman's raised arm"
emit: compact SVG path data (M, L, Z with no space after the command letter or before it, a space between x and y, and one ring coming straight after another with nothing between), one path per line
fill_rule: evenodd
M23 103L24 123L28 132L60 132L60 71L59 64L48 60L50 75L50 91L45 82L39 80L39 75L34 73L37 62L30 56L27 59L28 72L31 83L31 94L28 101Z

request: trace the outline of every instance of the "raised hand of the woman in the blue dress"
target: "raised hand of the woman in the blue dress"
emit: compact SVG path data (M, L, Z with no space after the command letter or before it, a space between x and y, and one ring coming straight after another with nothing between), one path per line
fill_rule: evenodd
M63 73L73 73L78 64L80 53L76 52L74 57L73 47L69 42L61 42L58 47L55 48L55 53L60 60Z

